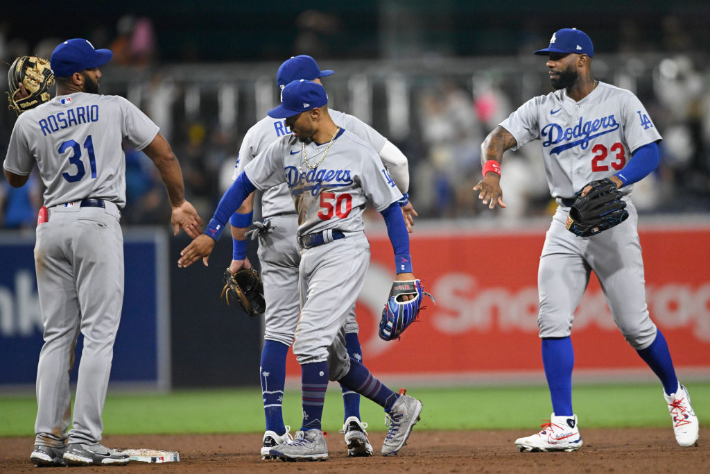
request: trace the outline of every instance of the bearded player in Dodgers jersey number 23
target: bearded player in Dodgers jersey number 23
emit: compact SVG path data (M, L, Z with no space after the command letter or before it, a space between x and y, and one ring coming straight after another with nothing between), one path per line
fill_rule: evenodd
M486 137L481 145L484 178L474 187L489 208L505 208L500 185L503 152L540 139L550 193L558 204L537 275L537 323L553 413L539 433L519 438L515 446L520 451L574 451L582 444L572 409L570 334L591 271L624 338L660 378L677 442L691 446L698 438L698 419L675 375L663 334L648 316L638 214L630 200L633 183L658 165L661 136L633 93L594 80L594 48L582 31L559 30L550 46L535 54L548 56L555 92L528 100ZM628 219L591 237L568 232L565 224L575 193L588 193L591 186L586 183L604 178L623 193Z

